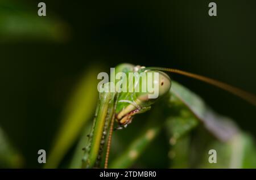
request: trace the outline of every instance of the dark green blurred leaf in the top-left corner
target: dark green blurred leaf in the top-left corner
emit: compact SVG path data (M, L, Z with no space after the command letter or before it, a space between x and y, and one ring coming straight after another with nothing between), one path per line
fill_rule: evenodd
M0 1L0 42L23 40L65 41L68 25L47 11L38 16L38 7L11 0Z

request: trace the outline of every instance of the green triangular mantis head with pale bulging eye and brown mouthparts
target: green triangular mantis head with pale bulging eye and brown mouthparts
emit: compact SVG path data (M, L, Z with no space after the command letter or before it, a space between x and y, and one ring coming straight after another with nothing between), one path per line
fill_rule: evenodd
M130 64L119 65L117 70L117 73L126 73L127 83L122 85L128 90L118 96L115 117L119 123L117 129L121 129L131 123L135 114L146 112L156 100L166 95L171 88L171 79L162 71Z

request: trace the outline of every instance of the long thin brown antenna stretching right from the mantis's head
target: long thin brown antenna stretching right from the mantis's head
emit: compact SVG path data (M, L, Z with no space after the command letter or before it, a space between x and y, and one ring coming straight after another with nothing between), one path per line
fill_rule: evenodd
M253 95L253 94L251 94L249 92L243 91L240 88L233 87L232 85L219 82L218 80L214 80L214 79L211 79L211 78L207 78L205 76L193 74L191 72L177 70L177 69L174 69L174 68L145 67L144 70L168 71L168 72L172 72L172 73L188 76L189 78L201 80L202 82L205 82L205 83L208 83L208 84L212 84L212 85L214 85L214 86L216 86L218 88L224 89L225 91L228 91L228 92L232 93L233 95L236 95L236 96L242 98L243 100L249 102L250 104L256 106L256 96L255 95Z

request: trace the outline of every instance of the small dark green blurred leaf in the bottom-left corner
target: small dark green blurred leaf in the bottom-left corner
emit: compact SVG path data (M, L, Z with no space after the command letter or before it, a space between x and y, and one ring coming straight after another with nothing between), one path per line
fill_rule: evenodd
M0 128L0 168L22 168L23 161L23 157Z

